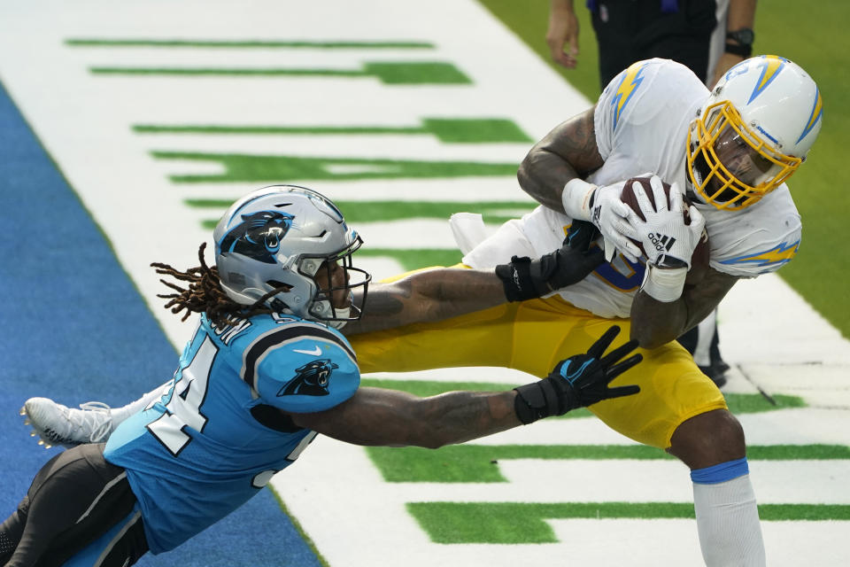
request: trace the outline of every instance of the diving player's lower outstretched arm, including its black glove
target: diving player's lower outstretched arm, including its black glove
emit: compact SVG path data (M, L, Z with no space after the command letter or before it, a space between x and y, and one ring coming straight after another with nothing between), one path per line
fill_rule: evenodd
M560 361L548 377L508 392L447 392L419 398L360 388L336 408L290 416L300 427L356 445L437 448L462 443L637 393L636 385L608 387L641 360L635 354L621 361L637 346L633 341L603 355L619 332L619 327L612 327L587 353Z

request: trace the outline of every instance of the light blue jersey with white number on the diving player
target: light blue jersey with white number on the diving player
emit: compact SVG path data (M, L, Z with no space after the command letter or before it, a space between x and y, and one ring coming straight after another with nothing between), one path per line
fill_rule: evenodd
M314 431L286 412L333 408L359 386L336 330L284 315L213 329L206 316L160 400L120 424L106 460L127 469L151 552L189 540L298 458Z

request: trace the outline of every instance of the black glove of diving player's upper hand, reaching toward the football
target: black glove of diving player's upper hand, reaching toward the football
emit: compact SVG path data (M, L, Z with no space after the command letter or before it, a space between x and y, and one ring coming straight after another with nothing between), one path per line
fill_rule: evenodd
M560 250L530 260L511 258L509 264L496 267L496 276L505 286L508 301L524 301L543 297L553 291L581 282L605 261L599 246L591 248L599 230L590 222L573 221Z

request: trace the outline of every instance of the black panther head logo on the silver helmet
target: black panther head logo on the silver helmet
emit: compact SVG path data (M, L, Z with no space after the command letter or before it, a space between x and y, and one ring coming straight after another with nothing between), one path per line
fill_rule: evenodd
M293 218L280 211L243 214L242 222L221 238L220 250L274 264L274 254L280 250L281 239L290 229Z

